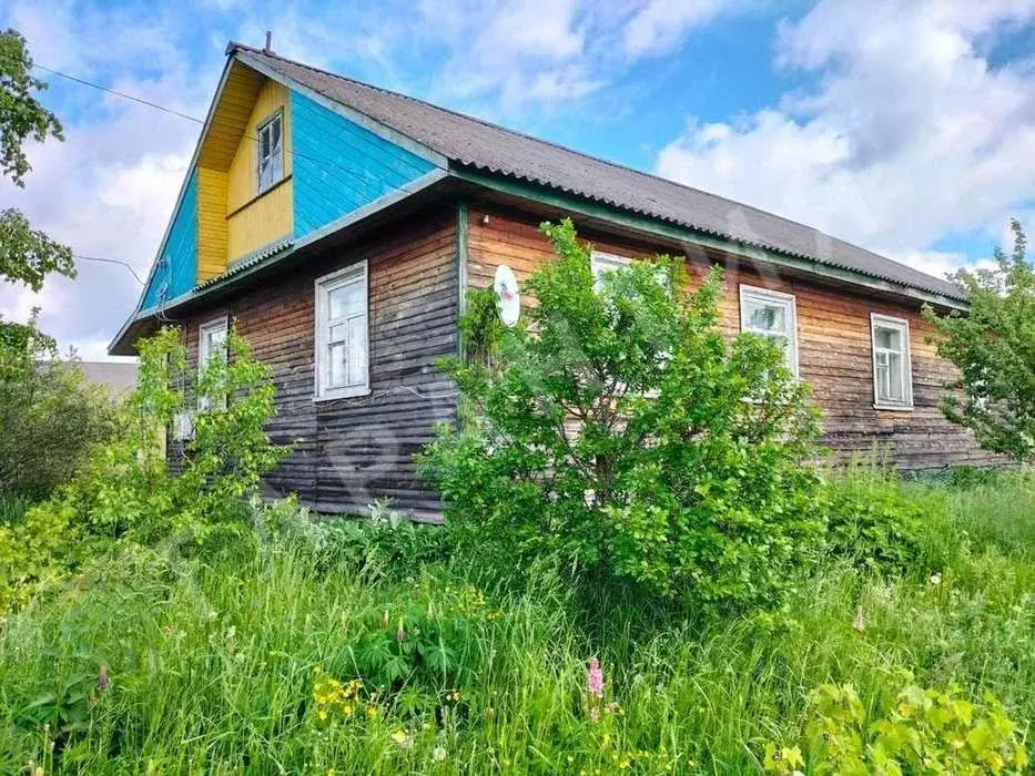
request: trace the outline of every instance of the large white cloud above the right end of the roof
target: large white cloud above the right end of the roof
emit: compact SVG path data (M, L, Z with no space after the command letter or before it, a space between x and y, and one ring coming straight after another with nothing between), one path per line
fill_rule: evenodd
M735 123L689 123L656 170L947 267L919 249L1035 197L1035 73L977 48L1033 17L1032 0L820 2L783 25L778 52L815 89Z

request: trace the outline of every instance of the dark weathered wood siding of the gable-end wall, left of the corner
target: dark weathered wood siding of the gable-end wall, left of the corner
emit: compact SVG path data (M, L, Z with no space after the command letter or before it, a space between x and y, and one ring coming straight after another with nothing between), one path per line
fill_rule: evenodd
M268 364L277 387L272 436L294 443L267 482L324 512L363 510L378 498L417 517L438 512L413 456L440 421L455 421L453 382L434 367L457 349L456 211L442 207L405 225L310 257L183 321L192 364L199 326L226 314ZM314 283L369 262L371 395L314 401ZM175 447L171 446L174 451Z

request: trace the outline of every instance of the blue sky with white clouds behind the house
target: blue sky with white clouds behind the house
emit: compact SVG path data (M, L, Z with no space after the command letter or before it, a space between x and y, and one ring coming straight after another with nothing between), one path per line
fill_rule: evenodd
M805 223L931 274L1035 232L1035 0L3 0L40 65L203 118L231 39ZM200 126L38 71L19 207L145 277ZM78 262L0 316L87 359L133 312Z

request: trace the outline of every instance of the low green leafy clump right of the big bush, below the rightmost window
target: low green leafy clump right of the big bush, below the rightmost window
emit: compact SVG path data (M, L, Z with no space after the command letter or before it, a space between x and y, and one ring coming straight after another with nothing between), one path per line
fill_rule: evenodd
M853 466L830 473L823 509L834 557L895 573L945 566L946 552L931 540L947 520L938 491L910 488L894 471Z

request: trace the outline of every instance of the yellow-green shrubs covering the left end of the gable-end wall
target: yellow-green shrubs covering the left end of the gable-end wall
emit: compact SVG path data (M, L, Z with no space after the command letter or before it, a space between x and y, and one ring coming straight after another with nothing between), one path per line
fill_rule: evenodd
M61 578L119 543L194 552L234 549L250 530L248 497L284 453L265 431L275 411L266 368L231 329L229 359L196 379L177 329L140 344L138 388L112 439L95 445L70 482L18 524L0 527L0 610L23 603L40 582ZM199 396L230 397L195 417L182 471L166 466L161 439Z

